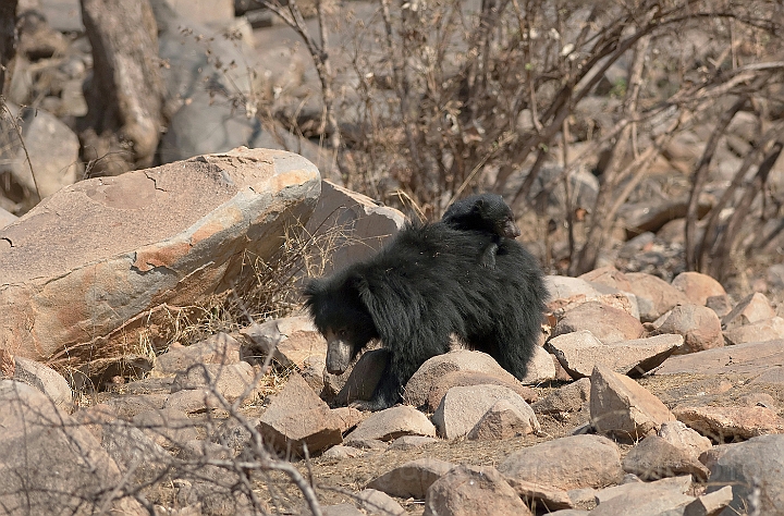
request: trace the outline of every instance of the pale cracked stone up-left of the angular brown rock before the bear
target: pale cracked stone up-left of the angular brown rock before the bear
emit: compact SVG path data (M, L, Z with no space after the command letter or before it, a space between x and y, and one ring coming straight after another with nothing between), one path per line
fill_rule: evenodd
M249 400L256 394L256 372L246 361L223 366L221 364L198 364L174 377L172 393L193 389L210 389L220 393L229 403L244 395Z

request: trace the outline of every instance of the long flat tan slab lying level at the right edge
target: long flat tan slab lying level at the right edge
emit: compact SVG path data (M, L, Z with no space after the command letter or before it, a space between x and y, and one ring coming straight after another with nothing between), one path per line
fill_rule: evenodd
M781 366L784 366L784 340L776 340L670 357L654 374L742 374L755 378Z

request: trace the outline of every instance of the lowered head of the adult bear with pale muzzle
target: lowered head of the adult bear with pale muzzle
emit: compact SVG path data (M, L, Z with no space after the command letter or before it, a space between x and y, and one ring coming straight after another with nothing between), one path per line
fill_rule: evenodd
M360 299L363 280L338 274L311 280L305 287L305 306L327 340L327 370L342 374L359 352L378 337L376 325Z

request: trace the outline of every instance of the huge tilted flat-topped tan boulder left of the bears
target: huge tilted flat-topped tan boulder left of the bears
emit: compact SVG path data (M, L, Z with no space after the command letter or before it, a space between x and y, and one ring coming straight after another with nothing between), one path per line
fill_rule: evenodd
M320 186L304 158L244 147L68 186L0 230L0 346L63 365L127 353L143 324L229 287L246 251L272 257Z

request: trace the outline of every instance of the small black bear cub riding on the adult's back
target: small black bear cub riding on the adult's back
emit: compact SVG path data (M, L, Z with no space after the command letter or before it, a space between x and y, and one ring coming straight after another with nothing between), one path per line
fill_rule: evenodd
M502 238L516 238L520 235L512 208L497 194L470 195L457 200L446 208L441 221L457 230L482 231L495 235L479 260L485 267L495 267L495 254Z

